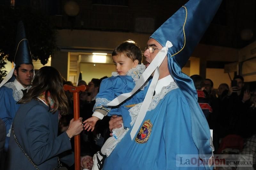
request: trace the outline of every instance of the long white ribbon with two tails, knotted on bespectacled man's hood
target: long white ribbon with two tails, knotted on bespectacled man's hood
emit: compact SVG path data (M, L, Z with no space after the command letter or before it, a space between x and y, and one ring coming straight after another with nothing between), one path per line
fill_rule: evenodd
M140 124L143 121L149 104L152 100L155 88L156 88L156 83L159 78L159 66L162 64L167 52L168 48L172 47L172 43L170 41L167 41L165 44L165 47L163 47L156 55L156 57L153 59L153 61L149 64L148 68L143 72L143 74L140 76L140 79L137 81L135 87L132 89L131 92L129 93L123 93L116 97L114 100L110 101L107 106L117 106L120 103L122 103L124 100L128 99L131 97L139 88L148 80L149 76L155 71L153 79L150 83L150 86L148 88L148 92L145 96L145 99L142 103L140 112L138 114L138 117L132 127L132 131L130 133L131 139L133 140L134 136L136 135L138 129L140 128Z

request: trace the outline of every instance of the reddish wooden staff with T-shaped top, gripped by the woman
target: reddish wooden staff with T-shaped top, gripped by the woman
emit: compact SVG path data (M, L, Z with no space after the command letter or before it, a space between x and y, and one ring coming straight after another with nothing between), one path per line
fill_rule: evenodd
M70 86L70 85L64 85L64 90L69 91L73 93L73 99L74 99L74 121L77 120L79 116L79 92L84 92L85 89L88 88L86 85L80 85L78 87ZM80 135L75 136L75 170L80 170Z

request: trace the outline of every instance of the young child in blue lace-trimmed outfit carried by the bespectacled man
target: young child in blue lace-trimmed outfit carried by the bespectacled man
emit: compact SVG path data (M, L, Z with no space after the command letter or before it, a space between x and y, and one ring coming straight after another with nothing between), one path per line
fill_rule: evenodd
M119 115L123 117L123 127L113 129L113 137L109 137L102 146L101 152L97 152L93 156L93 169L102 168L104 161L102 158L110 155L116 144L124 137L128 129L131 128L132 118L129 114L129 109L142 102L148 90L147 82L121 105L117 107L106 106L106 104L120 94L131 92L140 75L145 70L145 65L141 64L142 53L140 47L134 41L129 40L121 43L114 49L112 58L116 65L116 72L112 72L111 77L102 80L100 92L96 96L96 103L93 108L94 113L91 118L83 123L84 129L89 131L90 129L93 130L96 122L104 116Z

